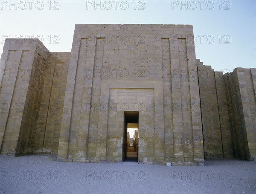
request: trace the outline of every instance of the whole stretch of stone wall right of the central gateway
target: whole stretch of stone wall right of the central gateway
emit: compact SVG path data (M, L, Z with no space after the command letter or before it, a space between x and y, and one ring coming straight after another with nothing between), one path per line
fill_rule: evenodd
M254 160L256 69L223 75L198 62L205 158Z

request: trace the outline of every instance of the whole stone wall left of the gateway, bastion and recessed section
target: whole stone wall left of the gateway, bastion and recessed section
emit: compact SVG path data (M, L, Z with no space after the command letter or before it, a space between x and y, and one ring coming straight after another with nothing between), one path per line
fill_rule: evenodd
M38 39L7 39L3 50L1 153L57 154L70 53Z

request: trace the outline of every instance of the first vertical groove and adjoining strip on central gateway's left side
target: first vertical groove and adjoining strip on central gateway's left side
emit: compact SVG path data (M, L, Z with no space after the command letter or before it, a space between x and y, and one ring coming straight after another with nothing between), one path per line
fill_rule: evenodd
M69 159L87 159L87 122L90 124L87 107L91 105L92 98L95 50L94 41L81 38L70 125Z

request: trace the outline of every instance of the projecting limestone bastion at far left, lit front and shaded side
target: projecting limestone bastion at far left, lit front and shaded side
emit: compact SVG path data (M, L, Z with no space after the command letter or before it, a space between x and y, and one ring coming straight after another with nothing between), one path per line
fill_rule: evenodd
M6 39L1 56L1 153L32 153L44 84L41 72L48 56L38 39Z

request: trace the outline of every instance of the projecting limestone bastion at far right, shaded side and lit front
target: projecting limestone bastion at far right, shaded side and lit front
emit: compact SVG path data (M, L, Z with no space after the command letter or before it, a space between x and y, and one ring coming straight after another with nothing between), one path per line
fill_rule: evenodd
M256 69L236 68L224 75L233 155L253 160L256 156Z

